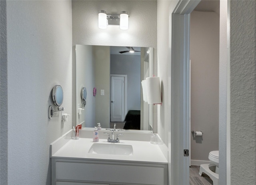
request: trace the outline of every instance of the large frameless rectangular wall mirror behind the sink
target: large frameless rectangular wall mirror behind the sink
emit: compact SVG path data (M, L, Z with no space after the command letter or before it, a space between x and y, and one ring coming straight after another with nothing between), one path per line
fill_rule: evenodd
M151 132L152 104L143 101L141 81L152 76L152 53L144 47L76 45L76 124L113 128L116 123L118 129Z

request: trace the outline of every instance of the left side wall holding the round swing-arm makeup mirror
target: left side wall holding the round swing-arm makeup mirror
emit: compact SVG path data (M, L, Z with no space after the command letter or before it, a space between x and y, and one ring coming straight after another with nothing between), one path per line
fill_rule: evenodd
M7 25L8 184L50 185L50 143L72 126L48 118L56 84L72 113L71 1L7 1Z

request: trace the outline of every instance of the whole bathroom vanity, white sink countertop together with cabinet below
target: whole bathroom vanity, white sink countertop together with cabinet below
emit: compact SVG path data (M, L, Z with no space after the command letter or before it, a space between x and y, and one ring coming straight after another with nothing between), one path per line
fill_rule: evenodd
M97 143L92 131L80 130L78 140L69 131L50 145L52 185L168 183L168 161L159 145L150 143L150 133L123 132L120 143L108 143L103 132Z

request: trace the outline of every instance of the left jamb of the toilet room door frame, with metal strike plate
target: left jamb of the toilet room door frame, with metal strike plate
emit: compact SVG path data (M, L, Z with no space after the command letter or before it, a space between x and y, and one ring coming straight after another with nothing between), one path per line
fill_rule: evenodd
M171 165L169 184L189 185L190 13L200 0L180 0L172 12ZM190 151L189 151L190 153ZM190 155L190 154L189 154Z

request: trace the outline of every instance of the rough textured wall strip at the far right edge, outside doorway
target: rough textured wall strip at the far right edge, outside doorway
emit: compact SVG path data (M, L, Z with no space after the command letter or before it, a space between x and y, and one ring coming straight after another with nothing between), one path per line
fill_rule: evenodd
M230 1L231 184L256 184L256 1Z

